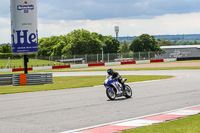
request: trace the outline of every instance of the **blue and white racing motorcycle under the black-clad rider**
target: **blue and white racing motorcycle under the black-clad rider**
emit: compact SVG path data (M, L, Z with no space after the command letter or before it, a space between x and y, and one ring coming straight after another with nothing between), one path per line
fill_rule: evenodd
M123 79L123 81L126 82L127 79ZM112 78L112 76L107 76L103 85L106 88L106 95L110 100L115 100L116 97L121 96L125 96L126 98L132 96L131 87L125 84L125 89L123 89L118 80Z

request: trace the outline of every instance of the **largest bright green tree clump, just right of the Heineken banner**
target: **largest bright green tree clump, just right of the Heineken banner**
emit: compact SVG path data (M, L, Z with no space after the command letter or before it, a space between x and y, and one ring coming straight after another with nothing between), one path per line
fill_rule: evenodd
M64 36L51 36L39 39L39 56L83 55L101 53L116 53L119 41L112 36L87 30L74 30Z

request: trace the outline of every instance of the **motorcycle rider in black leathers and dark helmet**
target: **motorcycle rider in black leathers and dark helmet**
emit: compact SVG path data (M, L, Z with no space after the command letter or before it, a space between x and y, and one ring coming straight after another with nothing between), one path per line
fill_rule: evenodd
M112 76L112 78L117 79L117 80L119 81L119 83L121 83L121 85L122 85L122 90L125 89L124 81L123 81L122 77L119 75L118 72L115 72L115 71L113 71L112 68L109 68L109 69L107 70L107 73L108 73L108 76Z

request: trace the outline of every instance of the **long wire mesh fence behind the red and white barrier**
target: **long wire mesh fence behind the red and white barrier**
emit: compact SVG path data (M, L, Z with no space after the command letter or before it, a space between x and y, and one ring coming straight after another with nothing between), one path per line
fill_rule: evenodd
M59 66L68 64L87 64L100 62L117 62L127 60L148 60L157 59L157 52L138 53L108 53L108 54L85 54L70 56L33 56L29 57L28 67ZM23 68L23 57L0 59L0 69Z

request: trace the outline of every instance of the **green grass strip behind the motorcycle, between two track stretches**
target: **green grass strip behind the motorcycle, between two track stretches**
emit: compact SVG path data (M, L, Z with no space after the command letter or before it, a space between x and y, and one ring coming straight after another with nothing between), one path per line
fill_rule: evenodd
M139 82L147 80L166 79L173 76L122 76L127 78L127 82ZM69 88L80 88L102 85L105 80L105 76L66 76L66 77L54 77L53 84L45 85L30 85L30 86L1 86L0 94L10 93L22 93L22 92L34 92L34 91L47 91Z

